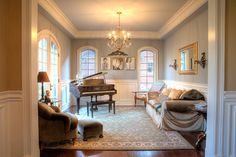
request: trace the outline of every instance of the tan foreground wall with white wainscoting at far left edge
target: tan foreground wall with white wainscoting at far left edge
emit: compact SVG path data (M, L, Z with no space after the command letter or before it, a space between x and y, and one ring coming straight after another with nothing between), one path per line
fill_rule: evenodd
M22 89L21 2L0 1L0 156L7 157L24 156L23 102L17 94Z

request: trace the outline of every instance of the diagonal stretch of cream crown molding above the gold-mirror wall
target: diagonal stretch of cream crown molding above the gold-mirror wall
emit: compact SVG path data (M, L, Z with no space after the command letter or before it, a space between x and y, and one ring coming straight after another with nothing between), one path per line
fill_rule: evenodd
M207 3L207 0L187 1L159 30L160 38L164 38L169 32L191 16L205 3Z

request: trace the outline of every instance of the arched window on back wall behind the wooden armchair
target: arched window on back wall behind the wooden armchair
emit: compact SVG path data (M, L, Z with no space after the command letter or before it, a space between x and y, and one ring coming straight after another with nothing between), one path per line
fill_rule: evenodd
M157 76L157 50L153 48L140 49L138 63L139 90L147 91Z

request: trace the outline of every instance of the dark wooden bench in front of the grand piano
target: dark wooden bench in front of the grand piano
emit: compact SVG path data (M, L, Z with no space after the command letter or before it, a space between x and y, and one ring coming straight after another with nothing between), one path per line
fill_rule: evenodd
M87 102L87 116L89 116L89 106L91 108L91 114L92 114L92 118L93 118L93 107L98 106L98 105L104 105L104 104L108 104L109 112L113 108L113 113L114 114L116 113L115 101L114 100L91 101L91 102Z

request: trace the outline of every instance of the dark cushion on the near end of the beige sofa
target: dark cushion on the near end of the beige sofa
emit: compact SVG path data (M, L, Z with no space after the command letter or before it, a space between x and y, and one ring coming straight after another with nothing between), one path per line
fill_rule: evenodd
M181 95L180 99L183 100L205 100L205 97L196 89L191 89Z

